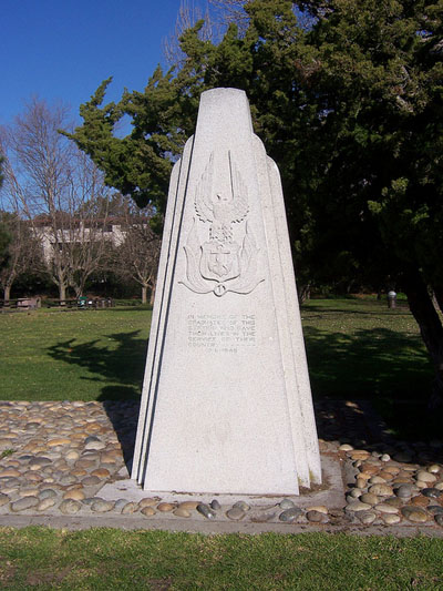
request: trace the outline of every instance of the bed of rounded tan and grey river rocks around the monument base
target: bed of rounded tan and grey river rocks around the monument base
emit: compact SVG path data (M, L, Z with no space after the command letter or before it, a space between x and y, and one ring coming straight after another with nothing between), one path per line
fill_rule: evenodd
M348 405L343 408L359 416ZM340 462L343 477L341 501L336 496L328 507L303 502L303 495L268 502L238 499L228 505L217 496L205 502L143 495L137 501L123 495L102 498L100 491L106 485L127 479L136 401L0 403L0 523L2 516L125 516L147 521L278 523L288 526L288 531L293 523L328 531L347 524L442 528L442 444L381 438L358 448L352 442L362 442L362 434L368 437L367 426L351 428L347 414L338 417L333 407L322 403L317 409L321 452ZM334 438L339 418L347 427L341 440ZM322 421L330 422L329 435ZM357 436L360 439L352 441ZM327 487L328 482L323 490Z

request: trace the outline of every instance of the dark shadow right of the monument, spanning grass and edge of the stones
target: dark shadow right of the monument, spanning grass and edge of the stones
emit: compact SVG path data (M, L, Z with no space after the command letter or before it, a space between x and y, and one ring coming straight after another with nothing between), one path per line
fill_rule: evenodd
M308 326L305 339L317 407L327 408L328 400L336 408L338 400L350 403L342 408L347 418L341 424L337 416L318 421L319 437L342 439L351 432L357 445L392 436L409 441L441 438L441 414L432 416L427 408L433 368L419 336L384 327L349 335ZM377 425L370 406L385 428Z

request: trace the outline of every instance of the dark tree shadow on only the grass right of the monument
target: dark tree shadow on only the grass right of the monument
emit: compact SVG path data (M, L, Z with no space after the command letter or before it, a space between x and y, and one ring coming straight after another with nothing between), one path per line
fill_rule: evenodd
M383 327L349 335L308 326L305 339L317 396L413 399L430 393L432 367L419 336Z

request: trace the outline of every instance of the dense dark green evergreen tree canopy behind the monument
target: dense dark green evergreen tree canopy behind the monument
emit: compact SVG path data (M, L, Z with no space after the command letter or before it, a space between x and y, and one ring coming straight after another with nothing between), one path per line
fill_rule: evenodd
M250 0L243 11L217 42L203 22L188 28L181 65L158 67L143 92L103 104L104 81L71 139L109 184L162 212L199 94L245 90L281 172L298 276L404 289L441 396L430 291L443 308L443 1ZM133 131L119 139L123 115Z

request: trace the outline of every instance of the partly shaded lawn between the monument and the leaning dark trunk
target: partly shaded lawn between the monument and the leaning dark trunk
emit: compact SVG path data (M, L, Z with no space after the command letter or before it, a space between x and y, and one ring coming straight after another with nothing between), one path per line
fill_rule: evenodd
M426 396L432 367L405 304L311 299L301 308L312 390L338 398Z

